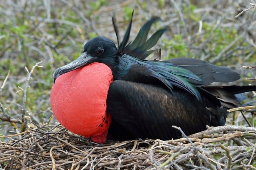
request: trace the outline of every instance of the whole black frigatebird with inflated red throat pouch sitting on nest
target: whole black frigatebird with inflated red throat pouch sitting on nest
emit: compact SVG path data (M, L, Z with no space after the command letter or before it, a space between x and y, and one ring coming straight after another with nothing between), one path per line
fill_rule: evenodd
M50 95L57 120L68 130L104 143L106 140L171 140L225 125L227 109L240 106L241 94L256 86L221 86L240 79L236 71L192 58L146 60L167 30L147 39L152 17L129 41L132 17L122 42L113 17L117 46L105 37L84 45L74 61L53 73ZM160 50L156 52L158 58Z

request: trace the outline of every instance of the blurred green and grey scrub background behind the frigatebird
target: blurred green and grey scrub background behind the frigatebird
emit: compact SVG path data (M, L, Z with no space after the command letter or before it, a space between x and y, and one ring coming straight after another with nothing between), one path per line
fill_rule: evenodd
M255 84L256 65L255 8L253 0L0 0L0 91L2 108L15 120L20 131L22 113L29 126L54 124L50 107L50 90L54 70L77 58L85 42L105 36L117 43L112 27L116 13L122 38L134 9L130 40L152 16L162 22L154 24L150 33L168 26L155 49L161 48L162 60L176 57L197 58L237 70L241 79L234 85ZM154 59L154 58L153 58ZM28 71L37 63L26 91ZM21 90L22 89L22 90ZM26 101L26 103L24 102ZM25 108L25 109L24 109ZM0 119L5 119L0 111ZM235 115L236 125L245 125ZM229 116L231 124L233 115ZM33 123L32 123L33 122ZM0 134L12 134L14 124L0 120Z

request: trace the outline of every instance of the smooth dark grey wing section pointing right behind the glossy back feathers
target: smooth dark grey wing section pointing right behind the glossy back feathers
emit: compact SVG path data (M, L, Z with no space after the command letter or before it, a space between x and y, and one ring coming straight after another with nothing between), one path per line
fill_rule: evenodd
M169 62L190 70L201 78L202 82L199 82L198 86L204 86L213 82L232 82L240 79L239 73L230 68L215 66L193 58L172 58L161 62ZM194 84L196 83L198 82L194 82Z

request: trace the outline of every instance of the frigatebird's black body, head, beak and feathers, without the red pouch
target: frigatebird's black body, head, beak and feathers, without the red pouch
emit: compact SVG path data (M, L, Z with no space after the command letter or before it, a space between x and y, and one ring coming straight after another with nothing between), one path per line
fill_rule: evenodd
M229 68L190 58L166 61L144 60L166 28L147 40L154 17L144 24L133 42L129 42L132 20L118 47L113 41L96 37L84 46L75 61L55 70L53 79L93 62L111 68L113 83L107 96L107 109L112 115L110 139L178 138L180 126L190 135L206 129L206 125L224 125L226 109L239 106L235 94L256 90L256 86L213 86L213 82L231 82L240 75ZM97 86L95 85L95 88Z

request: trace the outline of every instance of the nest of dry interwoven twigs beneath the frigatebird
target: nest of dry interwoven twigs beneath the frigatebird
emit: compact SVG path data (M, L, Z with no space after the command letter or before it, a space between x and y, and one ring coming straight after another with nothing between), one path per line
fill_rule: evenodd
M214 134L214 135L210 135ZM177 140L111 141L44 125L0 144L2 169L256 169L256 128L208 127Z

